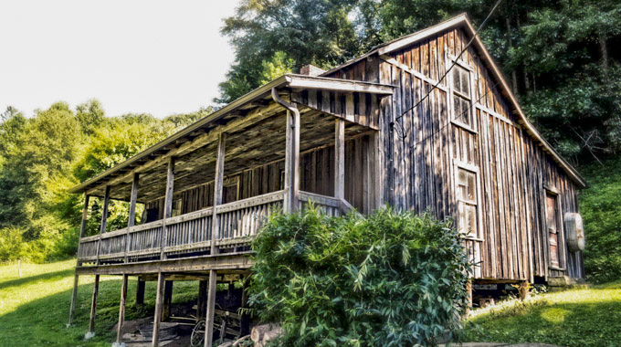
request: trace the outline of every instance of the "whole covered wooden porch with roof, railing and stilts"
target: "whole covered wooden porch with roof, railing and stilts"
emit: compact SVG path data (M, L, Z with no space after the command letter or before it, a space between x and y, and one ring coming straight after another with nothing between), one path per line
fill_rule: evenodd
M285 75L75 187L85 204L69 323L80 275L95 276L87 336L95 332L100 275L122 276L120 345L128 277L156 279L157 346L170 300L164 283L204 279L206 308L198 311L211 346L217 279L249 275L250 241L272 211L312 201L340 215L380 204L381 192L370 187L379 170L380 101L392 92L377 83ZM100 233L87 237L93 198L102 200ZM120 230L107 227L111 199L130 203ZM144 205L140 225L137 204Z

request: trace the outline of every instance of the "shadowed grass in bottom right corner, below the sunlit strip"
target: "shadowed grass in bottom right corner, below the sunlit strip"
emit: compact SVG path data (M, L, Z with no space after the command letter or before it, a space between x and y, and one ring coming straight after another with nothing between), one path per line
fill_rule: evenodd
M550 303L491 313L468 323L468 340L541 342L562 346L619 346L621 301Z

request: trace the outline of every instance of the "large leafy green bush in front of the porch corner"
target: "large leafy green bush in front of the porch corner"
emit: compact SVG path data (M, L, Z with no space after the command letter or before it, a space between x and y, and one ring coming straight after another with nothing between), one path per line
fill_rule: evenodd
M458 340L470 268L458 232L430 215L381 209L273 214L253 242L249 302L289 346Z

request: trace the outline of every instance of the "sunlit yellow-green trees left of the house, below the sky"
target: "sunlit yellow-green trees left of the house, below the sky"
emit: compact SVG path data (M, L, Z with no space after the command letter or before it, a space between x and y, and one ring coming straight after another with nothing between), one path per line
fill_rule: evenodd
M68 188L129 159L211 110L158 120L148 114L109 118L97 100L71 110L57 102L31 118L9 108L0 123L0 262L41 262L74 255L83 197ZM87 233L99 231L100 201ZM127 223L127 203L111 203L110 227Z

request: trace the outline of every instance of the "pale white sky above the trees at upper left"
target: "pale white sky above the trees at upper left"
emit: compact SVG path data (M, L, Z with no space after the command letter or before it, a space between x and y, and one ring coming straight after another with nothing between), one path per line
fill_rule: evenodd
M107 116L213 104L238 0L0 1L0 112L100 100Z

